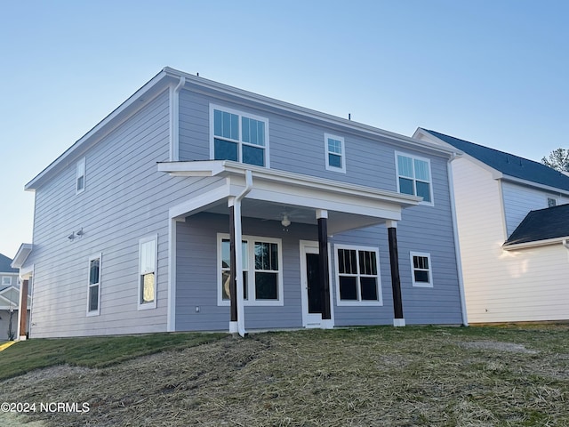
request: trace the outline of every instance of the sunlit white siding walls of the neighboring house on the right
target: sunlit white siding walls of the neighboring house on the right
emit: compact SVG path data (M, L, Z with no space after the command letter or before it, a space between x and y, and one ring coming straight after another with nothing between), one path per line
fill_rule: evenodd
M469 322L569 318L569 252L561 245L501 248L509 235L502 202L509 204L505 209L511 224L516 209L521 213L525 208L527 214L547 207L547 193L501 185L465 158L453 162L453 179Z

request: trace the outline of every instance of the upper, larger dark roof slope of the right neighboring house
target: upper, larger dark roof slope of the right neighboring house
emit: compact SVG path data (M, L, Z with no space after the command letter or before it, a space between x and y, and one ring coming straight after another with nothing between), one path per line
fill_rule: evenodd
M445 141L456 149L464 151L469 156L485 163L485 165L489 165L504 175L546 185L554 189L569 191L569 176L557 172L549 166L498 149L490 149L474 142L460 140L444 133L430 131L429 129L422 130L441 141Z

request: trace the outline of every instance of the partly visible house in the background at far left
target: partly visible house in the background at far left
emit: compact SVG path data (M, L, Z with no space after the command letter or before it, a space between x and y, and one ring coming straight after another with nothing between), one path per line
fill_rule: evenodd
M10 258L0 254L0 342L15 338L18 330L20 277L19 270L13 269L11 263Z

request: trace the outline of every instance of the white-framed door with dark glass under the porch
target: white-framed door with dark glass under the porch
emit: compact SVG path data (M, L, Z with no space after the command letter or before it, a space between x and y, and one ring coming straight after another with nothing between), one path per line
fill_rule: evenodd
M318 265L318 242L301 241L302 326L332 327L333 321L322 320L322 294ZM330 301L332 305L332 298Z

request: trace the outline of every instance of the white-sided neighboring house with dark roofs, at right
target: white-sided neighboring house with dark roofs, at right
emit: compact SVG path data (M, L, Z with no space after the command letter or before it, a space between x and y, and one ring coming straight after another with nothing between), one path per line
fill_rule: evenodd
M523 157L417 129L453 160L470 323L569 319L569 177Z

